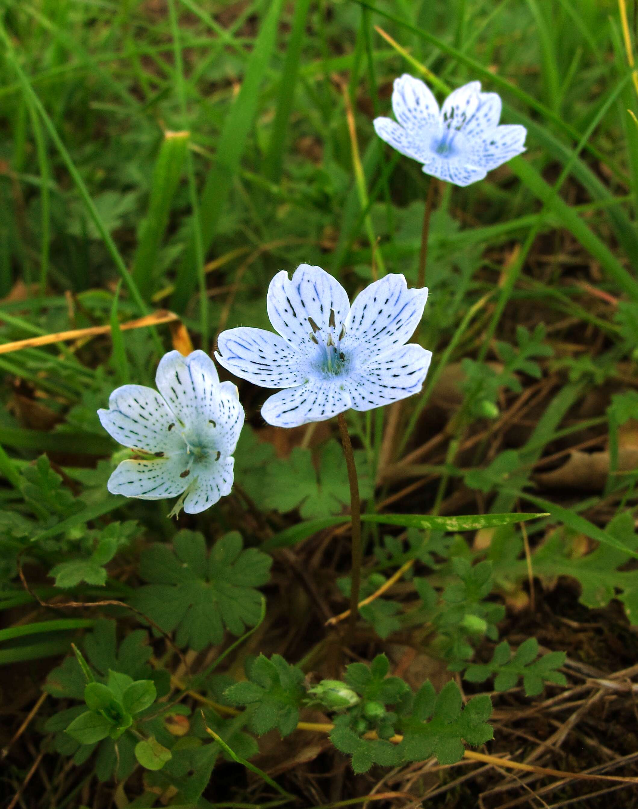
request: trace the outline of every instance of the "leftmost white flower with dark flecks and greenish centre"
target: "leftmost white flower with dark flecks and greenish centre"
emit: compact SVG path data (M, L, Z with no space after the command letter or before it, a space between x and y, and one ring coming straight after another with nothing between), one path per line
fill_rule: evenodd
M160 500L184 495L184 511L199 514L230 494L234 458L243 427L237 388L219 382L203 351L165 354L155 383L123 385L112 392L99 421L143 460L125 460L108 479L112 494Z

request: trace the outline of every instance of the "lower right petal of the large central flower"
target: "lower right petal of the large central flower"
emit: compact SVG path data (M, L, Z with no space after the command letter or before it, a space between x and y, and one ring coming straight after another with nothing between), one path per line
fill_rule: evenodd
M371 410L418 393L431 359L431 351L411 344L371 360L346 383L353 409Z

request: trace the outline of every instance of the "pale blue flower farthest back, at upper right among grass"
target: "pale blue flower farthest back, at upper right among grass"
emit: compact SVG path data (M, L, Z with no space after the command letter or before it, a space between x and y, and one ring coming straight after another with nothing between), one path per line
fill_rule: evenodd
M499 95L470 82L451 92L439 109L429 87L404 74L395 79L392 93L396 121L375 118L374 129L402 155L423 163L426 174L469 185L525 151L526 128L499 125L501 107Z

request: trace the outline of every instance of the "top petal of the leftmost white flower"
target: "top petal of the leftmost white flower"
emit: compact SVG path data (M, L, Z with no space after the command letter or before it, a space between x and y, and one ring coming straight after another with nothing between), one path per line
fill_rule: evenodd
M184 357L169 351L159 362L155 383L182 426L201 429L217 396L219 377L213 360L203 351Z

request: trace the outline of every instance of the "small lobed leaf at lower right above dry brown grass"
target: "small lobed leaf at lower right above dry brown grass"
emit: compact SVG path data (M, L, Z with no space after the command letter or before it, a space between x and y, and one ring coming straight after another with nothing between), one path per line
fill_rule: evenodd
M528 638L512 656L509 643L503 641L496 646L489 663L475 663L468 666L463 677L471 683L484 683L494 676L495 691L508 691L523 678L527 697L535 697L543 691L543 682L567 685L564 674L557 671L564 665L564 652L549 652L537 659L539 642L535 637Z

